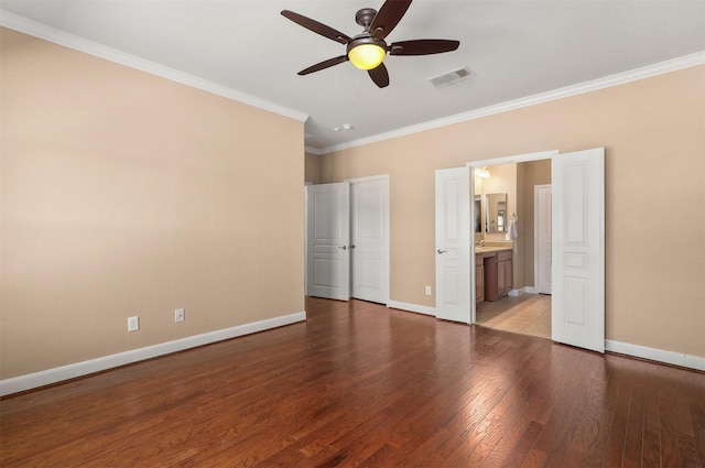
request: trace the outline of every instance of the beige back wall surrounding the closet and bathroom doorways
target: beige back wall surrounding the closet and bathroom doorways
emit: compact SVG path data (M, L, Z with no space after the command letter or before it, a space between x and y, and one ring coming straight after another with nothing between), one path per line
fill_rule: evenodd
M596 146L607 338L705 357L705 66L335 152L321 174L390 175L391 298L434 306L435 170Z

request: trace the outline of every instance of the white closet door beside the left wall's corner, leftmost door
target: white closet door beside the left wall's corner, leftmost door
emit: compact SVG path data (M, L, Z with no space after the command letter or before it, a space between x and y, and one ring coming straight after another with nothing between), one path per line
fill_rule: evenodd
M310 185L307 199L308 295L350 298L350 185Z

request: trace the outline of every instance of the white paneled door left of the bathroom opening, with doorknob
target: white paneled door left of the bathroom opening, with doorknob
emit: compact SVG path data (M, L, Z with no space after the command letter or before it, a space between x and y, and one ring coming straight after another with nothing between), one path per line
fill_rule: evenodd
M469 324L470 167L436 171L436 317Z

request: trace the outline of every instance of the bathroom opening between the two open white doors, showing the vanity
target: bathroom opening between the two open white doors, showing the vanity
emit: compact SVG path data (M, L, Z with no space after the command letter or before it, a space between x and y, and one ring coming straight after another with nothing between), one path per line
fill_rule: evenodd
M476 281L481 283L476 284L475 323L550 339L551 205L545 194L550 200L551 160L482 166L474 187ZM543 197L536 198L538 187ZM505 284L492 281L497 274Z

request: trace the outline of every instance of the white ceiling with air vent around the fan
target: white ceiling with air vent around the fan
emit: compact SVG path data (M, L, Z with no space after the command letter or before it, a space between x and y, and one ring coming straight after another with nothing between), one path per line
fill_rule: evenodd
M6 25L8 17L12 23L29 19L42 23L35 29L47 25L307 115L305 145L316 152L705 51L703 0L416 0L388 43L451 39L460 41L457 51L388 56L390 86L383 89L349 63L296 75L345 54L345 46L289 21L281 10L352 36L361 32L355 12L381 4L1 0L0 19ZM427 81L463 66L476 75L441 89ZM354 129L334 130L344 123Z

